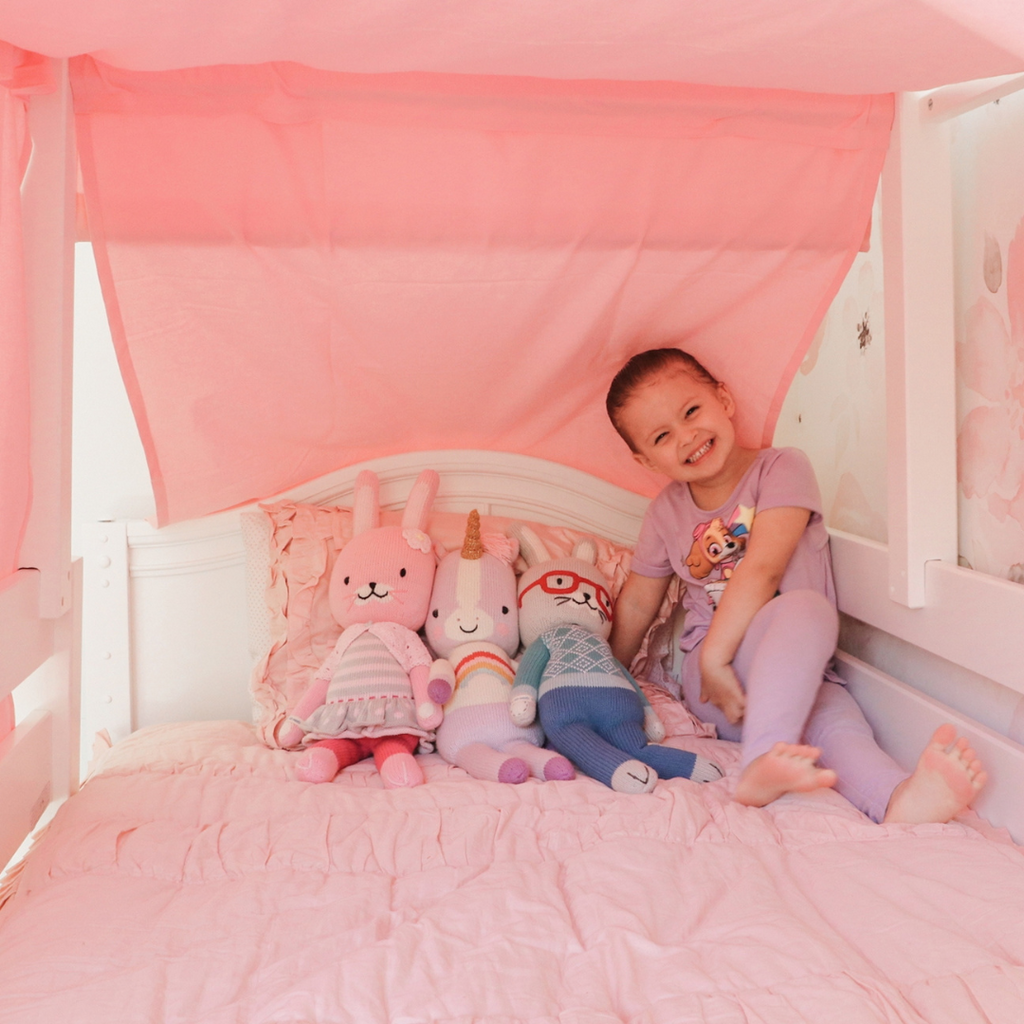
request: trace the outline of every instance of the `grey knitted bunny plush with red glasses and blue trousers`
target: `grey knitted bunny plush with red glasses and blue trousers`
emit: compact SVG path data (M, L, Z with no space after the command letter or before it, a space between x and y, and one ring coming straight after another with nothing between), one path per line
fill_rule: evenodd
M552 559L528 526L514 523L509 532L528 566L519 580L526 651L512 689L512 721L525 725L539 713L549 744L618 793L649 793L659 776L721 778L713 762L657 744L665 726L608 646L611 596L594 564L595 546L582 541L572 557Z

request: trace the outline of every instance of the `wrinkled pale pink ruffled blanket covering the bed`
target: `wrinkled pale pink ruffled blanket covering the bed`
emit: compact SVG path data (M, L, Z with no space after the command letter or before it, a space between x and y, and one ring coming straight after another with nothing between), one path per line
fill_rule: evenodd
M990 830L294 758L242 723L109 752L0 912L0 1021L1024 1021L1024 857Z

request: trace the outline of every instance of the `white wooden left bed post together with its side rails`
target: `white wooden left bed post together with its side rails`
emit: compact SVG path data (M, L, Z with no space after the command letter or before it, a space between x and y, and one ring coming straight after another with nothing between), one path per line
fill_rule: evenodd
M78 785L78 609L71 559L72 322L76 155L68 62L28 108L22 185L30 344L32 508L23 566L0 584L0 700L20 722L0 737L0 868L51 799Z

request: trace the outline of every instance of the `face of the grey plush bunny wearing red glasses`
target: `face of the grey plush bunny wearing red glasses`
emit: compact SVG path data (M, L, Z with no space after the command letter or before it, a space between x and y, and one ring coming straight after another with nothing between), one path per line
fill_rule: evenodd
M605 639L611 632L611 595L598 569L580 558L558 558L527 569L519 581L523 644L570 624Z

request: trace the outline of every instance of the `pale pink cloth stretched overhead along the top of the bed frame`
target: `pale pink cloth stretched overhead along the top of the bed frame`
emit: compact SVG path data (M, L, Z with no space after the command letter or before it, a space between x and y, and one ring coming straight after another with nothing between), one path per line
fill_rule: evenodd
M4 0L0 38L145 71L291 60L839 93L1024 71L1019 0Z

